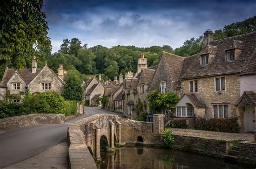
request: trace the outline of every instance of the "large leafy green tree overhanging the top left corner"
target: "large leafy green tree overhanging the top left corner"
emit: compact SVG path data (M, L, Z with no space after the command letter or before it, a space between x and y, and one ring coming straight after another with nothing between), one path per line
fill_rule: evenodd
M43 0L10 0L0 4L0 65L24 68L35 48L50 47Z

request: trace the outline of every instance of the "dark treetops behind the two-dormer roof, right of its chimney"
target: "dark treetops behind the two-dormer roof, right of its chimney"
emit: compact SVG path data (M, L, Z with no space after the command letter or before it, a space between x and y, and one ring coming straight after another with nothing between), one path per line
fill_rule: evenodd
M256 16L245 19L242 22L235 22L230 25L225 25L223 29L219 29L214 32L213 39L218 40L250 33L253 31L256 31Z

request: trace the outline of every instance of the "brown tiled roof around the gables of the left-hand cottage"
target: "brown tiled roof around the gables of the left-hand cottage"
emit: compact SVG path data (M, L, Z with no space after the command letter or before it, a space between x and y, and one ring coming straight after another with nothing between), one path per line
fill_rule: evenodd
M21 69L17 70L17 73L21 76L21 78L25 81L26 85L28 85L36 76L42 71L42 69L36 69L36 73L32 73L32 69ZM11 79L11 77L15 74L15 69L6 68L4 72L4 76L2 78L1 86L6 86L6 83Z

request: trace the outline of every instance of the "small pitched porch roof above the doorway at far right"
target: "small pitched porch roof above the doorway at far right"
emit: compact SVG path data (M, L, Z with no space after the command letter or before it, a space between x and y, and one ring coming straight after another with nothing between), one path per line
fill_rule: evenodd
M238 106L238 105L256 106L256 93L254 93L253 91L244 91L244 93L239 98L237 104L235 104L235 106Z

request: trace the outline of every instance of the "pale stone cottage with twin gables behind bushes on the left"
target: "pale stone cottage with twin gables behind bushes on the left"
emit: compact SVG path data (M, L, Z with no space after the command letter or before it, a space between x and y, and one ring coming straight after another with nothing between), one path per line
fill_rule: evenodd
M15 70L5 68L2 81L0 83L0 100L20 102L20 98L9 100L7 94L24 94L54 90L60 93L63 86L63 78L66 71L59 65L58 75L46 64L43 68L37 68L37 61L34 57L31 69Z

